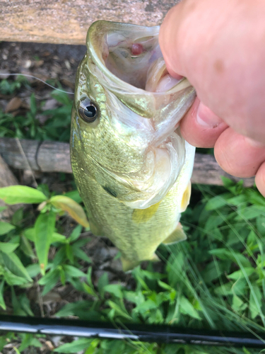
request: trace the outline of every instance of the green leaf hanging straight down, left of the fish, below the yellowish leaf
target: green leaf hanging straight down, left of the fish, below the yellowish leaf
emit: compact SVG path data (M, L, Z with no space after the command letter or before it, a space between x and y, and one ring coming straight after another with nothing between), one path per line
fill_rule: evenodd
M55 219L56 214L49 212L40 214L35 222L35 247L43 275L48 263L49 246L52 243Z

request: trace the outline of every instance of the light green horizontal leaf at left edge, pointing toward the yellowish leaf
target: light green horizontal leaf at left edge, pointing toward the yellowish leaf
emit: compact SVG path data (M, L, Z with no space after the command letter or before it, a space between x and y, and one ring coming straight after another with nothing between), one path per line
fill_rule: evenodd
M10 205L34 204L47 200L40 190L25 185L11 185L10 187L0 188L0 199Z

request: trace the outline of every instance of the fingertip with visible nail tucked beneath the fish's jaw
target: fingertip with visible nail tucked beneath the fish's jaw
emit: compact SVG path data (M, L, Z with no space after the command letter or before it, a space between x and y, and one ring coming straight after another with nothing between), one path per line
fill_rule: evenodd
M192 108L180 122L182 136L194 147L213 147L227 127L199 98L196 98Z

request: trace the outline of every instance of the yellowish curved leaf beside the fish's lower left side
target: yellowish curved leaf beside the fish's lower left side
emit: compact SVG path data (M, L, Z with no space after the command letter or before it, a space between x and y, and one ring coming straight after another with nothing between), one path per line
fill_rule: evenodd
M54 207L68 212L78 224L81 224L83 227L89 227L88 219L83 211L83 207L73 199L65 197L64 195L54 195L49 202L51 202Z

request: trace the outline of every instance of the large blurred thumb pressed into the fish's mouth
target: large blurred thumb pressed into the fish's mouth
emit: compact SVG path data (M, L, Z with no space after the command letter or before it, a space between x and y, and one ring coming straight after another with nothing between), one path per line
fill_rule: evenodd
M262 0L183 0L165 16L159 42L172 76L186 76L216 115L265 144L264 15Z

